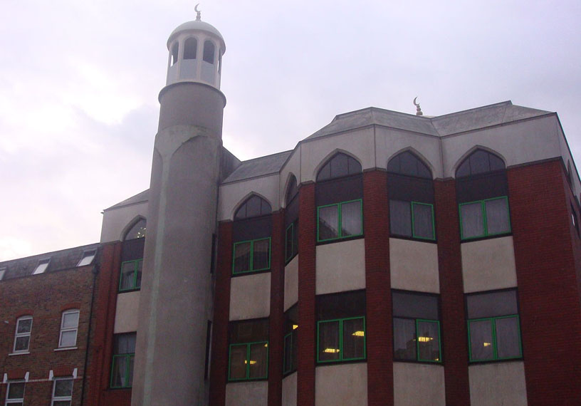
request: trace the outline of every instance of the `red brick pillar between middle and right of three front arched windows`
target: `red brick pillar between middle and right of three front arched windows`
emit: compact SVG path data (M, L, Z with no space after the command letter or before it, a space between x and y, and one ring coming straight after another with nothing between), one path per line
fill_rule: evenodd
M434 192L446 405L470 405L456 182L435 181Z

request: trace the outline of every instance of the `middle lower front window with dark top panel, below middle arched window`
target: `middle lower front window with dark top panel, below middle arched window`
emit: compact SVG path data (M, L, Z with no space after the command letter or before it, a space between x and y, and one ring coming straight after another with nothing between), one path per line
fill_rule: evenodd
M392 291L394 360L441 363L438 296Z

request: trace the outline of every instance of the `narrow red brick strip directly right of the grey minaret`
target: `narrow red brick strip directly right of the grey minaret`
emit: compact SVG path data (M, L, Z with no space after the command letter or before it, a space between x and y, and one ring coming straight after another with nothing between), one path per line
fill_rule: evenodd
M221 222L218 227L218 258L216 263L210 370L210 405L212 406L223 406L226 402L230 278L232 274L232 225L232 222Z

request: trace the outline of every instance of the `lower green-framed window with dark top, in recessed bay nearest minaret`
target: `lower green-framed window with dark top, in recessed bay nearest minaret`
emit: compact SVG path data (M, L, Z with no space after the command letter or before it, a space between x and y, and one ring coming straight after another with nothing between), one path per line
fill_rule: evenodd
M230 323L228 379L268 378L268 319Z

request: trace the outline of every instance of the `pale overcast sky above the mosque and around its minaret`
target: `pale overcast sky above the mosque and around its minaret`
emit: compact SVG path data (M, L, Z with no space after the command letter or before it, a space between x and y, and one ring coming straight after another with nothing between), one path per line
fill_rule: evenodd
M196 1L1 0L0 261L90 244L149 187L166 41ZM581 156L581 1L202 1L226 41L224 146L290 150L375 106L557 111Z

